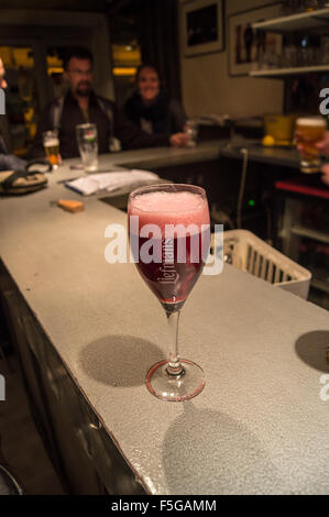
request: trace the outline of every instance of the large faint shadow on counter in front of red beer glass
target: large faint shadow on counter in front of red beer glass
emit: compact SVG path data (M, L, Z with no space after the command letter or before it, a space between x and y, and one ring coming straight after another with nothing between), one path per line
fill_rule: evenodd
M171 494L277 494L289 487L264 446L228 415L184 403L166 431L163 468ZM196 492L197 487L197 492Z

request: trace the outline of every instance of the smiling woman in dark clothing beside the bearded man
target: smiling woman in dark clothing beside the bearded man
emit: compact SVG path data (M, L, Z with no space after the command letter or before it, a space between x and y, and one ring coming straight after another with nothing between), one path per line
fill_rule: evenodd
M127 100L128 119L147 133L182 133L186 113L179 102L161 87L155 66L143 64L136 73L136 91Z

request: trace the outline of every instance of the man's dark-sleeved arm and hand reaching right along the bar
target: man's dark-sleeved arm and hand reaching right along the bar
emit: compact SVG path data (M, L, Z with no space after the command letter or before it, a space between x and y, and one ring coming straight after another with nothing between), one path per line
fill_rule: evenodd
M114 136L120 140L123 150L134 150L143 147L161 147L172 145L180 147L187 144L188 138L184 133L176 134L149 134L142 131L133 122L127 119L125 114L113 106L113 131Z

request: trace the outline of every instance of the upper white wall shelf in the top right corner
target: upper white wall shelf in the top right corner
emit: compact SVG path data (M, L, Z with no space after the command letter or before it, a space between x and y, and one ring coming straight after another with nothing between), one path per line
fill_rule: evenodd
M329 8L317 9L310 12L299 12L288 16L274 18L264 22L253 23L255 30L286 33L321 29L329 24Z

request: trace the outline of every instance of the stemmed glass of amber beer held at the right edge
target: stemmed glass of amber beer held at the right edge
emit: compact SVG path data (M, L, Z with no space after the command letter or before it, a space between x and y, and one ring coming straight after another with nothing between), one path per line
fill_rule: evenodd
M303 173L318 173L321 158L316 146L325 138L327 129L322 117L303 117L296 120L296 140L300 154L300 170Z

